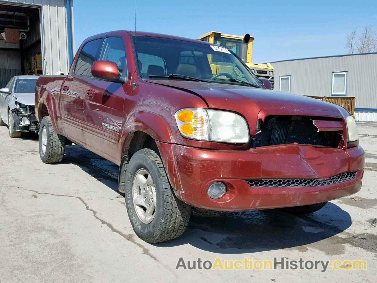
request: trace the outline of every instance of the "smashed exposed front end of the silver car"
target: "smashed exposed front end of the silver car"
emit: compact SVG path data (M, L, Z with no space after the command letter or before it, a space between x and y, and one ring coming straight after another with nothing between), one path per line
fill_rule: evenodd
M39 122L35 116L34 106L28 105L24 108L12 109L14 129L18 132L38 132Z

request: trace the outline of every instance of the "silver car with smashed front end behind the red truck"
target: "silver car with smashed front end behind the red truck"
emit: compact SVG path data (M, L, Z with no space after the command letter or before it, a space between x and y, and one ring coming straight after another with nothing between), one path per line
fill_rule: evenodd
M20 137L22 132L39 131L34 109L38 77L15 76L0 89L0 126L8 125L11 138Z

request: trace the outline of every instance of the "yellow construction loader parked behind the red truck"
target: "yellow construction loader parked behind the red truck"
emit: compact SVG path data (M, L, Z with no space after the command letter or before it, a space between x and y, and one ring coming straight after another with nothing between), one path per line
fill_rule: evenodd
M223 34L219 31L211 31L203 34L198 39L210 43L221 45L233 51L239 58L241 58L251 71L258 78L265 78L269 80L274 86L274 67L270 63L267 64L253 64L251 63L251 55L253 51L254 37L250 34L244 36ZM214 66L211 66L213 68Z

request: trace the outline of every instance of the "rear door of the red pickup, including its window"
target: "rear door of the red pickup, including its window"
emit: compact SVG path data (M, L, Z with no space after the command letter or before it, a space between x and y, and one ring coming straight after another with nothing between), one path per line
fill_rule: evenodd
M83 46L72 74L61 89L61 120L66 136L85 146L83 134L84 96L92 76L92 66L98 58L103 38L91 40Z

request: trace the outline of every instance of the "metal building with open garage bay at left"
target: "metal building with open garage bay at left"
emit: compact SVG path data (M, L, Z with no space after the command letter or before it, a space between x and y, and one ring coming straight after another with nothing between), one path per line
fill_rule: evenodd
M73 0L0 0L0 87L14 75L68 73Z

